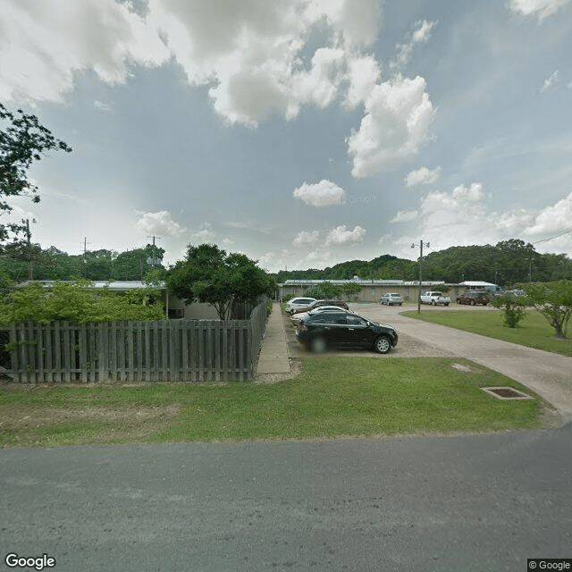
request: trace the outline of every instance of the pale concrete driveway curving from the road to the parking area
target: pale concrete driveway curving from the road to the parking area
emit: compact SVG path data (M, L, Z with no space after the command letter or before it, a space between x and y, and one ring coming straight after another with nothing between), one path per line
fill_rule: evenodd
M400 334L397 348L387 355L373 352L337 351L341 356L388 357L466 357L485 367L507 375L535 391L566 416L572 416L572 357L559 356L540 349L526 348L508 341L494 340L475 333L462 332L446 326L429 324L400 315L416 306L382 306L381 304L353 304L357 314L384 324L391 324ZM423 306L422 312L468 310L494 312L492 307ZM287 318L286 318L287 319ZM287 319L288 320L288 319ZM288 320L288 322L290 322ZM294 328L286 324L290 357L301 357L307 352L294 337Z

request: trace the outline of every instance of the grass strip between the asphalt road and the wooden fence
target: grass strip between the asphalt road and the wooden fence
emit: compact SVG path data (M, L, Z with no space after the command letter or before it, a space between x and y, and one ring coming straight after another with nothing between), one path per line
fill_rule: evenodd
M461 369L458 368L458 366ZM518 383L450 358L312 356L298 378L257 383L0 386L0 444L79 445L487 432L542 426Z

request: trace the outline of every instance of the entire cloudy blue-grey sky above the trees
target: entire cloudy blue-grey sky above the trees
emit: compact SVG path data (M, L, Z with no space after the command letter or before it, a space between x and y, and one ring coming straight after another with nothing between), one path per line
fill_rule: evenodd
M73 148L11 203L43 248L572 257L572 0L0 4L0 101Z

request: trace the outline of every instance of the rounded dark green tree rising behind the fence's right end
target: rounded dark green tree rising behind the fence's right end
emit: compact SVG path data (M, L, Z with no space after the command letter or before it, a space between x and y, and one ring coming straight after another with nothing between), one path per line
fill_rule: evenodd
M221 250L214 244L187 248L187 256L167 273L169 290L191 302L207 302L221 320L231 317L236 302L257 301L276 290L273 278L243 254Z

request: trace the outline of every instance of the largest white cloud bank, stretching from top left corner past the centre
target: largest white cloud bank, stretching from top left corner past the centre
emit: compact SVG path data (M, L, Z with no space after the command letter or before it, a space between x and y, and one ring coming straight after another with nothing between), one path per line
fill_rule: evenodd
M181 65L228 122L291 119L302 105L363 102L379 65L381 0L4 0L0 99L61 101L78 71L121 83L134 65ZM320 29L319 34L315 29ZM320 37L309 63L307 45Z

